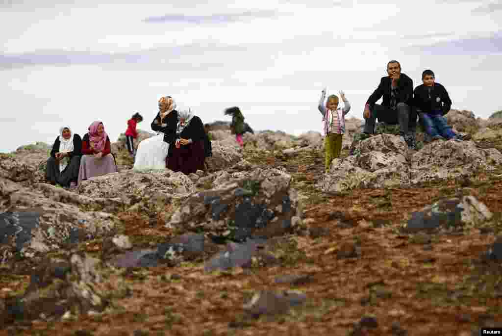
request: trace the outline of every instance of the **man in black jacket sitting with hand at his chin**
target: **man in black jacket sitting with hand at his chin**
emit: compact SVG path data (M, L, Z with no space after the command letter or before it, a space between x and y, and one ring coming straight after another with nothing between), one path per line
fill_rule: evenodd
M380 122L399 124L400 134L409 148L416 150L415 132L417 114L413 103L413 80L401 73L401 64L392 60L387 64L389 76L382 77L379 86L369 96L364 106L363 138L374 134L376 119ZM382 98L382 104L376 104Z

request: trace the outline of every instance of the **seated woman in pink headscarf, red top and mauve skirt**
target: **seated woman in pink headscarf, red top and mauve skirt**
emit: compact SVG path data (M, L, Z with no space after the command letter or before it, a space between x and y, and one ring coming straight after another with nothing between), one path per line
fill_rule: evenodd
M82 139L82 154L78 184L82 180L117 171L115 159L110 153L110 138L101 122L89 126L89 133Z

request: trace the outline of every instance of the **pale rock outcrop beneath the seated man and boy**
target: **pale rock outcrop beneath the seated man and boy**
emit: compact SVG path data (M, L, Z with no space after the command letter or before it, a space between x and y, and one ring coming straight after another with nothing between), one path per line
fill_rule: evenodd
M471 141L436 141L418 152L408 151L401 137L382 134L360 142L354 155L334 159L330 173L317 186L326 192L357 187L383 188L470 175L502 163L496 149L480 149Z

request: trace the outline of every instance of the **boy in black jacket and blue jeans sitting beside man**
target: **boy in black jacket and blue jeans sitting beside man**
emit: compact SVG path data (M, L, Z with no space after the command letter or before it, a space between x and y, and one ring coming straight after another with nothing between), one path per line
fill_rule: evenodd
M434 72L422 72L423 84L414 90L414 105L425 133L430 137L428 142L439 139L468 140L453 132L443 116L450 111L451 99L445 87L435 82Z

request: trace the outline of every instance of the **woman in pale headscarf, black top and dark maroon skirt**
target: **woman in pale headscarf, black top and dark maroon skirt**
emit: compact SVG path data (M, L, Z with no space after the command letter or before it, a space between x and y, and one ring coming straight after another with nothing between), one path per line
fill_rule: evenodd
M174 146L169 146L167 168L186 175L204 170L205 138L204 125L199 117L193 116L190 109L178 112L176 140Z

